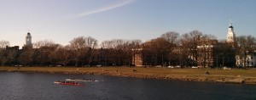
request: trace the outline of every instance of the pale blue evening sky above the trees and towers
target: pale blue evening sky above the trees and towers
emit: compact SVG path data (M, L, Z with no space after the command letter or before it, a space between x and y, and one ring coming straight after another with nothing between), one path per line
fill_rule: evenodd
M168 31L201 31L226 39L230 19L236 36L256 36L256 0L0 0L0 41L69 44L91 36L147 42Z

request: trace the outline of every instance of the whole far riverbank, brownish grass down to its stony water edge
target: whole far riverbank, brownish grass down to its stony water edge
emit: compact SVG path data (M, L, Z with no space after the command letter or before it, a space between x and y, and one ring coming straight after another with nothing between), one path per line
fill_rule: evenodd
M167 69L127 67L0 67L5 72L113 75L177 81L256 84L256 69ZM206 74L206 72L209 72Z

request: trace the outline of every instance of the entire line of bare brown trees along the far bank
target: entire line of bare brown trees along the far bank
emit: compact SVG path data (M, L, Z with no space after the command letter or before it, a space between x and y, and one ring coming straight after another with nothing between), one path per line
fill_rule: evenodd
M170 31L148 42L113 39L99 43L93 37L79 36L66 46L44 40L33 43L33 47L16 49L6 47L9 46L8 41L0 41L0 63L2 66L131 66L133 56L140 52L143 65L197 66L199 41L214 39L216 36L201 31L183 35ZM233 44L221 40L214 52L218 64L212 67L234 66L237 54L246 58L247 53L255 52L255 46L254 36L237 36Z

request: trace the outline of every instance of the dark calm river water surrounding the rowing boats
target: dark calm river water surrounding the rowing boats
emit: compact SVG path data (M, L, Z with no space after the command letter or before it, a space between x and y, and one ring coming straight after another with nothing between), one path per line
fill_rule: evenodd
M84 86L61 86L67 78L96 79ZM256 99L255 85L166 81L106 75L0 72L1 100L171 100Z

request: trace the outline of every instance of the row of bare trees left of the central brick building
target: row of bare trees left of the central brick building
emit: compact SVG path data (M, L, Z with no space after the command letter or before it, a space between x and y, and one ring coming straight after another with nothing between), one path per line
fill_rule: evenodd
M1 65L129 65L132 48L139 46L140 40L113 39L99 46L93 37L79 36L62 46L51 41L35 42L33 47L6 47L9 42L0 42Z

